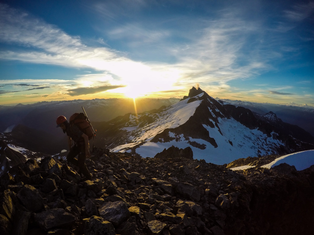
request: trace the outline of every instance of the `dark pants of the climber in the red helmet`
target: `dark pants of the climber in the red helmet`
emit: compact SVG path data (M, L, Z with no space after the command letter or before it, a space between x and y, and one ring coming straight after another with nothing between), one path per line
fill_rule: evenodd
M78 155L78 159L75 157ZM70 149L67 160L68 162L72 163L79 167L80 171L83 175L87 178L91 178L91 174L89 173L87 166L85 164L86 154L85 154L85 143L76 143Z

